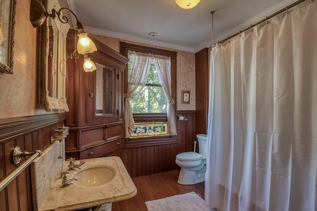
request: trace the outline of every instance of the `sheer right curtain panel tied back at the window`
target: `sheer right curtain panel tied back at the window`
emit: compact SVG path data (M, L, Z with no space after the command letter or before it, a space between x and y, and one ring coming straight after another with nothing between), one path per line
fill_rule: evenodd
M160 84L162 85L164 94L168 101L168 107L167 107L168 132L170 135L177 135L174 99L172 99L172 88L171 88L172 82L171 82L170 57L154 55L154 63L158 70Z

